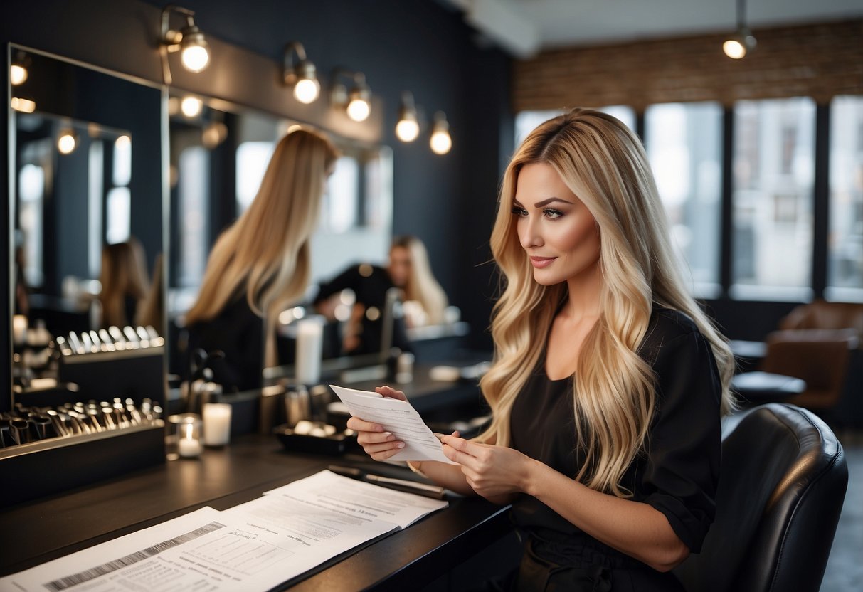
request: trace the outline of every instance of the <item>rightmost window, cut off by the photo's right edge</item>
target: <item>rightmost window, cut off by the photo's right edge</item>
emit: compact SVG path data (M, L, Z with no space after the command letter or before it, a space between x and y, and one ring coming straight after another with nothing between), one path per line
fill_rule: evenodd
M863 97L830 106L828 299L863 301Z

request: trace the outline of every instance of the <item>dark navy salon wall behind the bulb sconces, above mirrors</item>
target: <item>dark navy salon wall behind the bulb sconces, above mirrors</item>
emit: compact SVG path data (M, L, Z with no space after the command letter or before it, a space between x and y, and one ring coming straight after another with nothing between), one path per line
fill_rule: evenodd
M14 3L3 7L0 42L161 83L155 40L162 5L138 0ZM176 85L394 149L394 232L416 234L426 242L438 279L473 327L471 345L490 347L484 329L494 293L492 272L490 266L476 265L488 260L497 184L512 151L510 60L497 50L478 47L462 17L433 0L197 0L181 5L198 12L196 22L210 35L213 61L197 77L175 69ZM325 100L307 108L280 103L280 94L272 89L279 78L282 49L293 40L303 42L324 86L335 66L366 74L375 94L369 122L350 127L334 120ZM2 70L0 84L7 89L8 72ZM395 139L403 90L413 91L427 119L435 110L446 112L453 138L450 154L432 154L427 135L413 144ZM4 119L3 137L7 131ZM3 163L8 151L7 143L0 142ZM8 186L8 170L2 168L0 181ZM9 211L0 210L0 223L8 228ZM0 245L0 256L9 261L6 241ZM8 310L8 278L0 285L0 306ZM6 315L0 315L0 332L10 335ZM10 338L0 340L0 360L9 359L9 343ZM9 385L9 366L0 367L0 384ZM8 405L8 400L0 396L0 405Z

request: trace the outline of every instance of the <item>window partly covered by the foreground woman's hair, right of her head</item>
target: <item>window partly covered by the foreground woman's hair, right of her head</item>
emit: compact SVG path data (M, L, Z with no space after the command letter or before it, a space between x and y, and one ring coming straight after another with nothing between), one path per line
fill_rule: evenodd
M652 105L645 111L645 142L683 278L694 295L715 297L721 290L721 105Z

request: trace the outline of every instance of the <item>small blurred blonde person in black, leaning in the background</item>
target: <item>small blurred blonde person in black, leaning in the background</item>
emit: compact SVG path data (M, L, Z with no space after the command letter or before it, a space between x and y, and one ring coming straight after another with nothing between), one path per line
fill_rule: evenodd
M394 239L387 268L361 263L321 285L314 300L318 313L331 320L336 318L341 293L349 289L355 300L342 336L345 354L381 351L387 293L390 293L390 298L397 296L403 302L405 315L394 318L393 326L393 345L400 350L410 350L406 326L444 321L446 294L431 274L425 245L416 236L397 236ZM394 292L390 292L393 289Z

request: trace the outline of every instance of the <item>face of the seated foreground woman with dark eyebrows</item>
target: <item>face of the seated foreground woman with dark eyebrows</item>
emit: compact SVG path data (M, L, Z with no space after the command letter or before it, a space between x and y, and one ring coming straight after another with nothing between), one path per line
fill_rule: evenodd
M533 279L543 286L577 279L599 264L596 220L551 165L521 167L513 200L519 242L530 257Z

